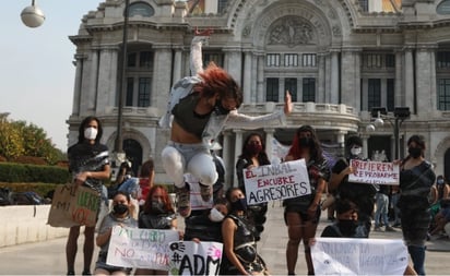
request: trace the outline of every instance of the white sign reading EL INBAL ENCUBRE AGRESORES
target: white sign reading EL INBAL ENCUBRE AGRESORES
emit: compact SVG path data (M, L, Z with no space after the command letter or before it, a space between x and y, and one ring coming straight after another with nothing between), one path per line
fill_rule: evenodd
M249 205L311 193L305 159L244 170Z

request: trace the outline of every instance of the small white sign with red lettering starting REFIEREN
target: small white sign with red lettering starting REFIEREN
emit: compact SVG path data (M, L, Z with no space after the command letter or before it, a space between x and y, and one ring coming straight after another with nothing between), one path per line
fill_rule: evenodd
M351 166L355 172L348 175L348 182L366 184L398 185L400 170L399 165L383 161L364 161L352 159Z

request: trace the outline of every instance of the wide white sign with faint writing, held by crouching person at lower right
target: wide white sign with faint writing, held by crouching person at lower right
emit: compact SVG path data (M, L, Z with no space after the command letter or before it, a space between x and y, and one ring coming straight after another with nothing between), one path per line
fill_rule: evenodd
M403 275L408 263L402 240L316 238L316 275Z

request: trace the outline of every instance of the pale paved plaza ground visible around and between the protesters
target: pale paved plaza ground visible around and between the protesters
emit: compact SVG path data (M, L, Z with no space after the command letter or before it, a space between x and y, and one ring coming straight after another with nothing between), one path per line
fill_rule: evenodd
M322 215L318 236L329 223ZM182 223L180 223L182 226ZM371 232L371 238L401 239L401 231L396 232ZM79 254L76 256L78 273L82 269L82 241L79 240ZM263 256L272 275L285 275L285 247L287 243L287 231L283 220L283 208L276 202L269 206L265 230L259 242L258 251ZM55 239L46 242L28 243L0 249L0 274L2 275L63 275L66 274L66 239ZM437 240L428 242L426 255L427 275L450 274L450 241ZM94 253L94 262L98 249ZM93 267L94 267L93 262ZM305 256L300 245L297 262L297 275L306 275Z

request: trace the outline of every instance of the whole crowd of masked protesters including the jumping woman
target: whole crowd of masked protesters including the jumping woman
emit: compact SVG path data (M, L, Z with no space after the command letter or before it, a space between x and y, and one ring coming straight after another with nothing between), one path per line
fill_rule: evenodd
M85 227L83 275L91 275L94 240L100 248L94 271L96 275L128 275L133 268L135 275L167 275L166 271L107 264L114 226L177 230L180 240L222 242L221 274L270 275L270 268L257 247L264 230L268 205L248 205L244 181L245 170L271 164L265 153L264 137L258 132L247 135L236 163L238 183L225 193L222 189L227 185L223 182L226 168L214 161L212 146L217 143L217 135L224 125L258 129L283 123L284 117L292 111L291 95L286 92L284 110L259 117L238 113L242 95L234 79L215 64L202 70L201 45L206 40L208 37L201 34L193 39L191 70L194 76L185 77L174 85L167 113L161 120L163 127L170 128L169 142L162 152L162 164L175 184L176 206L169 199L167 188L154 183L153 160L142 165L138 178L125 177L129 172L127 168L131 167L125 165L123 176L118 180L121 183L111 195L110 212L98 218L100 225L95 239L95 228ZM91 187L107 197L103 180L110 177L110 165L108 149L100 144L102 123L98 118L85 118L79 132L79 142L68 151L74 183ZM322 195L328 191L331 199L328 206L334 206L338 214L335 221L324 228L322 237L369 238L372 221L375 230L381 230L383 225L386 231L394 231L388 211L395 200L393 226L400 226L413 263L405 274L425 275L425 241L429 236L446 230L450 220L450 203L447 201L449 185L441 176L435 183L433 166L424 157L424 139L412 135L407 141L407 156L392 161L400 166L398 189L348 181L348 176L357 170L350 160L365 159L363 142L358 136L347 137L345 147L346 156L330 166L316 130L311 125L301 125L295 131L283 161L305 160L311 192L283 201L288 238L286 274L296 274L298 250L303 242L307 273L315 275L311 247L321 216ZM198 179L201 199L212 202L211 206L191 209L190 191L193 184L187 180L188 175ZM430 197L435 206L433 219ZM178 229L178 216L185 219L185 229ZM334 219L330 213L329 217ZM70 229L66 248L68 275L75 273L79 235L79 226Z

